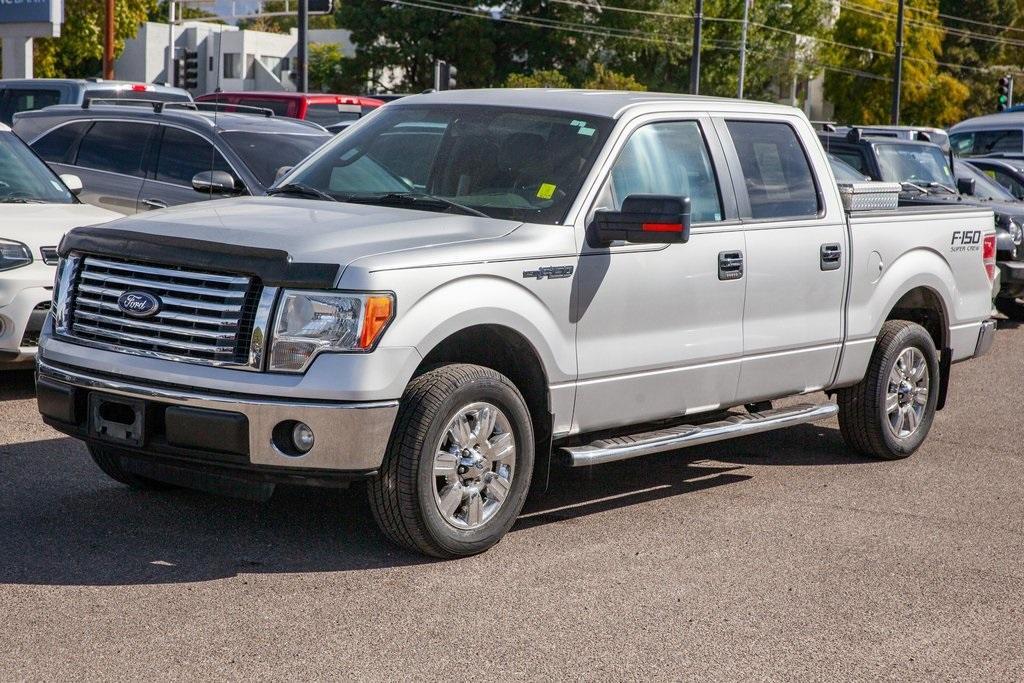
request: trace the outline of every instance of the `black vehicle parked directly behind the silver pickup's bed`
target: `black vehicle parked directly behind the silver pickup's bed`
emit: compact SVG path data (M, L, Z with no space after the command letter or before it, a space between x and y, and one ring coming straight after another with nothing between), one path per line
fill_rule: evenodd
M892 140L853 130L846 135L819 133L833 155L876 180L899 182L900 206L974 204L991 208L996 220L999 289L995 305L1014 319L1024 319L1024 203L1014 200L972 166L936 144Z

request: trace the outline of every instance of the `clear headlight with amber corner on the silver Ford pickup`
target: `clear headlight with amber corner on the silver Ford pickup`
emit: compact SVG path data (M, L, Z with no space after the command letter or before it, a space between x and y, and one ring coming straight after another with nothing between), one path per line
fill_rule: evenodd
M286 291L278 307L270 370L301 372L322 351L373 350L394 316L394 296Z

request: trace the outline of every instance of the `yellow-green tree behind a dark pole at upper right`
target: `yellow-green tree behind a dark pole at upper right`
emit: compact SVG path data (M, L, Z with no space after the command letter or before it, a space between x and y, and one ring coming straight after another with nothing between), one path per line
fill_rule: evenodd
M828 71L825 96L836 105L836 118L844 123L888 123L892 98L893 52L896 45L895 15L885 0L859 0L865 9L844 9L836 23L836 43L829 49L835 65L869 74ZM918 22L904 34L903 79L900 122L946 126L963 119L968 87L948 73L939 71L944 31L937 25L936 0L912 0L908 4Z

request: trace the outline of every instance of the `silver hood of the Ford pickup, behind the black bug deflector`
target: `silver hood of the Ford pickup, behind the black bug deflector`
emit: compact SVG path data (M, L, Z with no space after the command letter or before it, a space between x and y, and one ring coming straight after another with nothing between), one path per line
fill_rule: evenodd
M199 202L109 224L122 232L281 250L291 261L340 268L367 256L494 240L518 225L453 213L284 197ZM172 253L168 256L173 258Z

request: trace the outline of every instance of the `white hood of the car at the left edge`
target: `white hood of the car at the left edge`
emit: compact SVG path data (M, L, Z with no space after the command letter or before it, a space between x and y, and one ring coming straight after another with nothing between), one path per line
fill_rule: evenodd
M40 247L56 247L65 232L79 225L104 223L121 214L88 204L4 204L0 240L27 245L36 257Z

